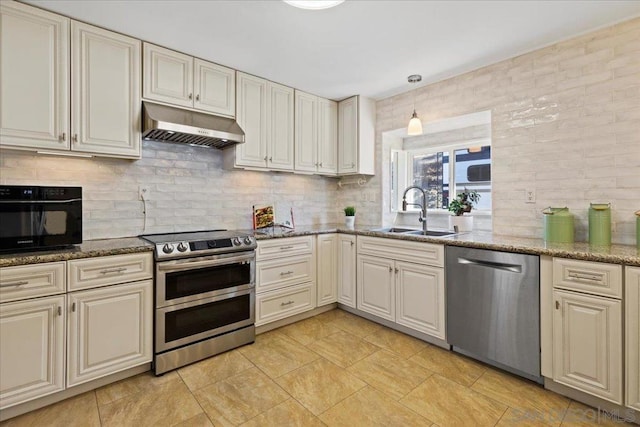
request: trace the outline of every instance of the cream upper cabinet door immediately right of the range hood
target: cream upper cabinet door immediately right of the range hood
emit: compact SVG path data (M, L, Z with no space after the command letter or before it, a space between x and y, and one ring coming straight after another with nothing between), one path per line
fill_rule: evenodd
M267 166L267 81L237 73L236 120L244 130L244 144L236 145L236 166Z

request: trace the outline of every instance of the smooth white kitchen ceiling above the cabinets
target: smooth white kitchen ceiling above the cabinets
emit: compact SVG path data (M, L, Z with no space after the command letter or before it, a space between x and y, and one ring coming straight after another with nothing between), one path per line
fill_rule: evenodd
M376 99L640 16L640 1L30 0L331 99Z

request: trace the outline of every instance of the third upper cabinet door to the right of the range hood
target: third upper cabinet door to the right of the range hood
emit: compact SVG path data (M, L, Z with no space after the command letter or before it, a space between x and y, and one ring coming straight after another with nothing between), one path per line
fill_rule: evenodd
M296 91L296 162L295 170L315 172L318 166L317 97Z

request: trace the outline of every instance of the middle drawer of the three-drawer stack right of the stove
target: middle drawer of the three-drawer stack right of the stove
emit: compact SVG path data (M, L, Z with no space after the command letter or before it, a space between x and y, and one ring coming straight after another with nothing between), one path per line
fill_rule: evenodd
M256 292L315 282L315 278L316 265L312 255L256 263Z

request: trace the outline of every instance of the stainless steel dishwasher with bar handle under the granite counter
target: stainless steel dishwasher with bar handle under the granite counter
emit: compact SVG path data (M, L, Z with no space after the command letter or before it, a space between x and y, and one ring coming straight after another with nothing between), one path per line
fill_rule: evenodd
M446 267L453 350L542 383L539 257L447 246Z

